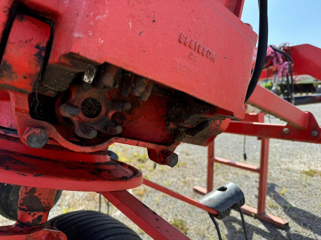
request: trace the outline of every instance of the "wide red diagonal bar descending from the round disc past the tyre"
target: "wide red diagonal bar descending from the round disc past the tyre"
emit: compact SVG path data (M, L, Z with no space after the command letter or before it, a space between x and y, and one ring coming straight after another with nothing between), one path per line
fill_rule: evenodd
M189 239L126 190L101 194L153 239Z

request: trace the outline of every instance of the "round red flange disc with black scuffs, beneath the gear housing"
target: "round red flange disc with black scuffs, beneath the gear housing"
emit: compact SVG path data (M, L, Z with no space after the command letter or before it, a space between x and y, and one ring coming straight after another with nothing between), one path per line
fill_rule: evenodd
M61 147L28 148L0 135L0 182L74 191L115 191L143 183L134 167L109 159L106 152L75 153Z

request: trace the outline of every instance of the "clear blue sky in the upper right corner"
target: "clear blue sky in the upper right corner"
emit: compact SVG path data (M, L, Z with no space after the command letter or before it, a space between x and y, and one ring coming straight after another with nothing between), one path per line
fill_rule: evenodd
M321 0L268 0L268 44L311 44L321 48ZM243 22L258 33L257 0L245 0Z

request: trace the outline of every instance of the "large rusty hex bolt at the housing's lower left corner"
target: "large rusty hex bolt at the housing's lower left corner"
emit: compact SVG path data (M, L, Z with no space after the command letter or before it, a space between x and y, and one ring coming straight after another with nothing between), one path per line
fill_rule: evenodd
M31 148L42 148L48 142L49 137L45 129L30 127L24 131L23 139Z

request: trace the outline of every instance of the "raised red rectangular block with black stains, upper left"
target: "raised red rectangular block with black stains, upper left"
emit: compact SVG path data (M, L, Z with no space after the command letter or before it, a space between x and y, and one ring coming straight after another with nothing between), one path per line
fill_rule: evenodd
M50 25L17 14L0 64L0 88L33 92L43 66Z

